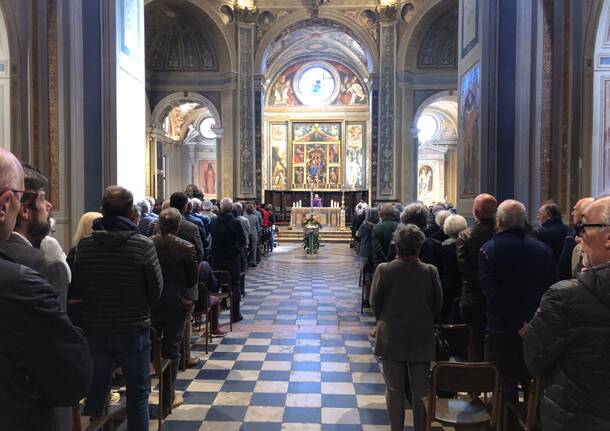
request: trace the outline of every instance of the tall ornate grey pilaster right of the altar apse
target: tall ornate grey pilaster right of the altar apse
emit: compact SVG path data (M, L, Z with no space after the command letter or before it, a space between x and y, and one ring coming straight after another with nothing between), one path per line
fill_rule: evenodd
M377 144L376 200L397 198L396 148L396 6L383 6L379 14L379 141Z

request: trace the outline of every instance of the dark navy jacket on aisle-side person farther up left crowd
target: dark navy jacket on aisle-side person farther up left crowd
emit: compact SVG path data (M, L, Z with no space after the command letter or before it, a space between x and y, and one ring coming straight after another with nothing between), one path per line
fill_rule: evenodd
M222 213L210 223L212 235L212 261L232 261L240 259L246 246L241 222L231 213Z

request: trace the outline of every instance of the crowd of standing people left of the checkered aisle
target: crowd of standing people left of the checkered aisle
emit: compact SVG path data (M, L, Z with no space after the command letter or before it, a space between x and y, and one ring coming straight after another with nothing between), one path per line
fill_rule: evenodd
M205 200L194 185L134 203L129 190L110 186L100 212L81 217L65 255L50 235L47 183L0 150L2 427L71 429L72 406L83 398L83 414L95 421L117 380L128 428L148 430L151 327L171 361L160 394L165 416L183 402L174 391L179 367L199 362L190 353L193 313L211 307L211 335L224 334L215 271L230 276L230 319L243 319L246 269L273 251L272 208Z

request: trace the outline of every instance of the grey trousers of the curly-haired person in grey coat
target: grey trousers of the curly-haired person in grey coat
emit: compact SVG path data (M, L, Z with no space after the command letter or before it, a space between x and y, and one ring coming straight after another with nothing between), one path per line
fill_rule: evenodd
M428 392L429 362L398 362L382 360L383 378L386 382L385 399L390 415L392 431L402 431L405 422L405 381L411 383L411 407L413 408L413 425L416 431L426 429L424 426L424 406L421 399Z

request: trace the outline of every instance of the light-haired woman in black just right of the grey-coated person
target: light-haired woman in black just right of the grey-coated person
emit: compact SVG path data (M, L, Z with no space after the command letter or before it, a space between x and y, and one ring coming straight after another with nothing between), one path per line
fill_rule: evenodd
M466 219L459 214L450 215L443 223L443 231L447 239L441 245L441 285L443 286L443 312L444 322L458 323L455 319L460 315L459 304L454 303L462 293L462 275L457 264L457 237L461 231L468 227Z

